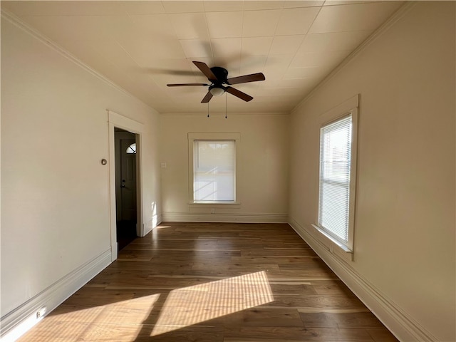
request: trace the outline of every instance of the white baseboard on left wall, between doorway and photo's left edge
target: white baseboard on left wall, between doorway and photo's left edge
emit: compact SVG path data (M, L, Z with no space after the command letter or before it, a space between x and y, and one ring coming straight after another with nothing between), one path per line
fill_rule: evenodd
M16 341L19 336L56 309L69 296L81 289L90 279L111 263L111 250L100 254L56 281L41 293L1 317L1 342ZM41 317L37 317L38 311Z

